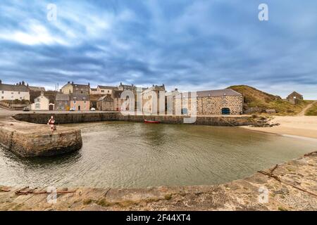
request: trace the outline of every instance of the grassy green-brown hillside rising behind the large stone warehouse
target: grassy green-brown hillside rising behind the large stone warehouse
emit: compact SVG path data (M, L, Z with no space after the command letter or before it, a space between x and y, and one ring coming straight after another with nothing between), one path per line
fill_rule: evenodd
M293 105L283 101L280 96L274 96L247 85L229 86L244 96L244 111L246 113L265 113L267 109L274 109L277 115L297 115L309 104L309 101L300 101Z

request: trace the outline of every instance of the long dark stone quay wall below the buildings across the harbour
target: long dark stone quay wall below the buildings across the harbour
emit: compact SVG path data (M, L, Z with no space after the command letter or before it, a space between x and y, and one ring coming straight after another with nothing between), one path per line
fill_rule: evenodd
M130 121L130 122L144 122L147 120L159 120L164 124L182 124L184 116L152 116L152 115L128 115L124 116L121 113L36 113L36 114L18 114L14 118L25 122L32 122L37 124L46 124L49 117L54 115L56 124L70 124L80 122L100 122L100 121ZM194 124L211 125L211 126L246 126L253 122L250 116L241 117L208 117L199 116Z

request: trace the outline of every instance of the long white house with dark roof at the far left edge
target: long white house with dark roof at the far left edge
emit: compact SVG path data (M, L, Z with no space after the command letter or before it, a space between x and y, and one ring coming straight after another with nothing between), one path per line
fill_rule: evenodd
M30 91L25 82L18 84L2 84L0 79L0 101L4 100L27 100L30 101Z

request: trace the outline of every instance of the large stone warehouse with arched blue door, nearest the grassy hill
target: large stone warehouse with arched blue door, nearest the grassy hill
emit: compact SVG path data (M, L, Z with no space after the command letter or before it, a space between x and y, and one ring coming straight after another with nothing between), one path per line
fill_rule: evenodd
M241 115L243 96L232 89L197 91L197 115Z

